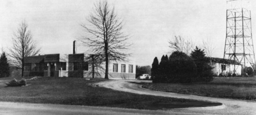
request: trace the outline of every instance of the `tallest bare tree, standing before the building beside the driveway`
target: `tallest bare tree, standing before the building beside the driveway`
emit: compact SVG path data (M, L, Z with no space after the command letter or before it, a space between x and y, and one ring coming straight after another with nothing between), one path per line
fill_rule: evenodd
M130 44L126 42L128 36L122 32L122 20L117 17L114 8L109 8L107 1L100 1L94 6L94 12L87 19L90 25L81 25L87 34L81 41L93 53L104 56L105 79L108 79L109 61L125 60L129 55L125 50Z

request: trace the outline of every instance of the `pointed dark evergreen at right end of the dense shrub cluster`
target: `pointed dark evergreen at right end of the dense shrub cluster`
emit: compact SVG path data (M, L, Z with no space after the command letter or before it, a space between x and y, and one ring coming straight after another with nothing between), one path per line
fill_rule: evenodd
M194 51L190 54L194 59L195 64L197 65L197 79L196 81L212 81L213 72L211 71L211 66L208 64L208 61L205 57L205 51L201 50L198 47L195 47Z

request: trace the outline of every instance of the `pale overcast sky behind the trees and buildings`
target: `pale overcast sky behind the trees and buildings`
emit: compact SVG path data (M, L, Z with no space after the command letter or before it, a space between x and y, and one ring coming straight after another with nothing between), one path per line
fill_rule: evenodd
M200 46L210 40L213 57L223 57L226 37L226 0L108 0L123 19L133 43L137 65L151 65L155 56L170 55L168 40L176 36ZM11 47L13 33L26 20L40 54L71 54L72 42L83 34L80 23L92 12L95 0L1 0L0 47ZM251 6L255 6L254 1ZM256 11L252 31L256 36ZM254 40L254 45L256 40ZM85 51L77 48L78 53Z

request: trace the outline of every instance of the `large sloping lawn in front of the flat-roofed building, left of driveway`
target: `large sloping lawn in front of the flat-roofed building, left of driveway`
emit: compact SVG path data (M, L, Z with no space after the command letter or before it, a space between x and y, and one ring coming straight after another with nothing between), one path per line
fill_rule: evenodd
M152 110L221 105L220 103L209 103L189 99L138 95L89 85L105 80L106 79L92 79L88 81L83 78L42 77L27 81L28 85L22 87L5 87L5 85L1 83L0 101Z

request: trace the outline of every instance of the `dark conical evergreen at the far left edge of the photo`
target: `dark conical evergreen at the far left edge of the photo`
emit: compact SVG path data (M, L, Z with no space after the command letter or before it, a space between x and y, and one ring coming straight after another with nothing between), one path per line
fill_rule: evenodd
M9 77L10 75L10 66L8 64L5 52L2 53L0 57L0 77Z

